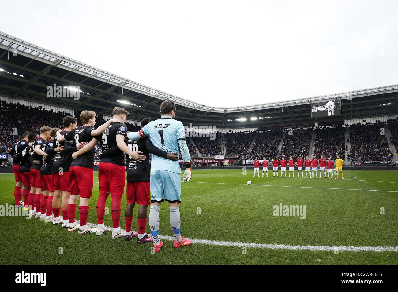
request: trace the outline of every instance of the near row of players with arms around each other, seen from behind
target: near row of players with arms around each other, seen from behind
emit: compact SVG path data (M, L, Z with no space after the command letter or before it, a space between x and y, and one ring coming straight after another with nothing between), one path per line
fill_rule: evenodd
M174 122L175 108L174 103L166 102L163 109L170 110L170 112L166 112L165 117L162 115L162 119L170 118ZM155 218L157 222L152 223L153 225L157 224L157 228L151 226L152 235L156 231L155 243L154 237L145 234L147 207L154 203L156 207L153 207L153 209L158 212L160 203L166 197L166 201L169 202L170 206L172 205L170 207L170 224L174 232L174 247L188 246L192 241L186 240L179 234L179 203L181 202L179 195L181 187L176 191L178 198L175 201L168 199L168 195L164 193L159 195L159 199L150 200L150 164L147 160L149 153L152 153L152 164L154 157L173 162L174 168L176 168L176 165L178 166L178 170L173 171L177 173L176 176L178 176L180 183L181 170L176 152L178 151L178 143L183 142L186 146L185 133L181 131L181 137L171 142L177 145L169 146L174 151L165 151L168 148L154 146L148 135L140 133L134 140L127 137L128 132L124 122L128 112L124 108L115 107L112 114L113 119L98 128L94 128L96 113L85 110L80 114L82 126L77 126L75 117L66 116L63 119L63 130L43 126L40 128L40 135L31 132L23 133L22 139L16 143L10 152L14 161L13 170L16 179L14 189L16 207L29 210L30 217L50 222L53 225L61 224L62 228L67 228L70 232L78 230L78 234L96 233L101 235L104 232L112 231L111 238L125 237L125 240L129 241L137 236L137 232L131 231L133 208L137 203L140 205L137 216L139 230L137 244L154 242L155 251L159 251L163 242L160 242L157 234L158 213L157 219ZM152 119L145 118L141 122L141 127L144 128L150 122L152 122ZM181 122L176 121L174 123L177 123L178 128L183 129ZM176 131L171 128L175 127L170 127L170 131ZM87 218L94 184L94 147L98 142L101 143L102 148L98 171L100 196L96 205L98 226L92 228L88 226ZM164 146L163 135L162 146ZM180 144L180 148L187 151L188 148L183 146L183 144ZM125 154L127 166L126 231L120 227L121 197L125 192L126 180ZM186 170L183 176L183 181L187 182L191 178L189 152L185 155L185 161L189 161L185 163ZM168 169L167 166L166 169ZM166 182L164 182L165 185ZM174 182L174 185L177 186L178 183ZM152 191L152 193L155 192ZM111 194L112 228L104 225L105 203L109 194ZM22 197L23 201L21 200ZM78 224L75 221L75 215L79 198L80 222ZM60 217L61 212L62 219Z

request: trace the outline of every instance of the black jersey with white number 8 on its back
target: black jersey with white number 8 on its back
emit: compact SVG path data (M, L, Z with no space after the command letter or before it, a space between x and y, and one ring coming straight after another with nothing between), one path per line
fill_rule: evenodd
M93 137L91 132L95 130L93 126L80 126L65 134L65 139L71 141L72 147L77 147L81 142L89 143L93 138L99 141L101 136ZM70 166L80 166L86 168L94 168L94 148L90 151L79 155L72 161ZM65 170L64 170L65 171Z

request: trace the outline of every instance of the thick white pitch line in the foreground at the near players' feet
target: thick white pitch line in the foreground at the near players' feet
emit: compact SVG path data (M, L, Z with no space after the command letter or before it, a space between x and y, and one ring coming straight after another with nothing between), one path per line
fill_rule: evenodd
M62 217L61 217L62 218ZM75 220L79 223L79 220ZM87 222L87 225L92 228L97 228L96 224ZM132 230L134 232L134 230ZM159 235L162 240L174 241L173 236ZM216 241L207 239L192 240L194 244L206 244L209 246L235 246L238 248L263 248L263 249L291 249L291 250L324 250L324 251L394 251L398 252L398 246L292 246L287 244L256 244L250 242L230 242L230 241Z

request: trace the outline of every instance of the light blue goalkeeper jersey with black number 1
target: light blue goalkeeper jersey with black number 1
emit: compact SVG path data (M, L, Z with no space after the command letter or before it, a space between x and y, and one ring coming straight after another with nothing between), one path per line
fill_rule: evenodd
M185 140L184 126L170 116L162 116L160 119L146 124L141 131L145 136L150 136L154 146L167 153L179 153L178 140ZM178 161L171 161L153 154L151 170L168 170L181 173Z

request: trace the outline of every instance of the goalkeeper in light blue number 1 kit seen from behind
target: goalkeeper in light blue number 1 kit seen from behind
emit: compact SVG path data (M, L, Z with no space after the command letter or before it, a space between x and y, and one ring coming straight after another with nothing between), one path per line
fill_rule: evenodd
M191 158L187 142L185 141L185 130L181 122L174 120L176 115L176 104L173 101L164 101L160 105L162 117L145 125L139 132L129 132L127 137L138 140L150 136L152 144L168 153L181 151L185 163L183 182L191 179ZM178 161L171 161L156 155L152 155L150 170L150 192L151 205L149 211L149 226L153 236L155 252L160 251L163 242L159 240L159 211L160 203L168 201L170 208L170 225L174 233L174 248L189 246L192 240L185 239L180 234L179 203L181 203L181 168Z

